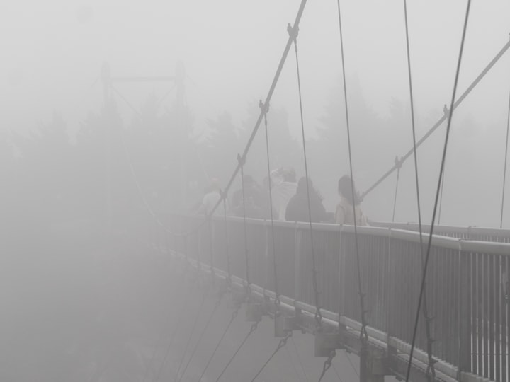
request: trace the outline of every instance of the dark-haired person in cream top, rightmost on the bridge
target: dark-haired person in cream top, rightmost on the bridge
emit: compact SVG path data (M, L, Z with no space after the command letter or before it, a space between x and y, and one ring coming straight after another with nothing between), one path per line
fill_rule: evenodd
M339 179L338 190L340 195L340 202L336 205L335 221L336 224L354 225L354 210L356 211L356 225L368 226L366 216L361 211L359 204L361 197L356 189L353 195L353 183L351 177L344 175ZM353 206L355 206L353 209Z

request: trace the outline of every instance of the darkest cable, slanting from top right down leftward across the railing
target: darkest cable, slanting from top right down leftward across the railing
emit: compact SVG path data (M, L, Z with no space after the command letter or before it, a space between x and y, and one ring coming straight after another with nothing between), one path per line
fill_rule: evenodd
M445 142L444 142L444 147L443 147L443 156L441 158L441 168L439 170L439 180L438 180L438 185L437 185L437 190L436 190L436 199L434 201L434 208L433 208L433 213L432 213L432 221L431 221L431 227L430 227L430 233L429 233L429 243L427 245L423 274L421 276L421 287L420 287L420 292L419 292L418 308L416 309L416 319L414 320L414 330L413 330L413 339L414 340L412 341L411 350L409 352L409 364L407 365L406 382L409 382L409 375L411 374L412 357L413 357L413 352L414 352L414 345L416 342L416 332L418 330L419 313L421 311L421 302L423 300L424 290L425 290L426 272L427 272L427 266L429 265L429 257L430 257L431 246L432 246L433 228L434 228L434 223L436 221L436 212L437 212L437 207L438 207L439 192L441 191L441 179L443 177L443 169L444 169L444 165L445 165L445 161L446 161L446 150L448 149L448 137L450 136L451 120L453 117L453 110L454 110L454 105L455 105L455 93L457 92L458 77L459 77L459 73L460 73L460 63L462 62L462 57L463 57L464 42L465 42L465 35L466 35L466 29L467 29L467 20L469 18L470 6L471 6L471 0L467 0L467 7L466 7L464 26L463 26L463 34L462 34L462 40L460 41L460 51L459 51L459 55L458 55L457 69L455 71L455 81L453 83L453 93L452 93L452 98L451 98L451 102L450 102L450 112L448 113L448 125L446 125L446 137L445 137Z

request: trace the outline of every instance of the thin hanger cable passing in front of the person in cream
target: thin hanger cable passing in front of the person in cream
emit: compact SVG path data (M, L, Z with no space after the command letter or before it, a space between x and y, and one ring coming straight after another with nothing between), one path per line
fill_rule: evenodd
M354 191L354 178L353 178L353 168L352 168L352 151L351 151L351 127L349 126L349 118L348 118L348 100L347 100L347 83L346 83L346 74L345 74L345 59L344 59L344 36L341 28L341 11L340 11L340 0L336 0L336 4L338 6L338 18L339 18L339 32L340 32L340 51L341 51L341 63L342 63L342 79L344 81L344 106L346 111L346 127L347 127L347 144L348 144L348 158L349 158L349 171L351 173L351 192L353 198L356 197L356 193ZM354 216L354 239L356 244L356 270L358 273L358 294L360 298L360 309L361 309L361 330L360 330L360 340L361 347L363 350L366 350L365 347L368 343L368 333L366 330L367 322L365 318L365 294L361 289L361 265L360 265L360 254L358 248L358 224L356 222L356 203L353 202L353 216ZM360 366L360 369L361 366Z

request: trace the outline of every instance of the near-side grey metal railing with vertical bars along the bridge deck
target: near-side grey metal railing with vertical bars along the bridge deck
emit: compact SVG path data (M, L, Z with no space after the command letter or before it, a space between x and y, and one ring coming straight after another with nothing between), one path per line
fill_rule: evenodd
M185 230L202 218L179 219L174 226ZM212 254L215 267L226 270L228 245L232 274L244 279L242 219L228 218L226 228L227 244L222 219L212 221L211 231L203 226L188 238L188 256L207 266ZM294 306L314 306L309 229L304 223L275 222L278 288ZM472 235L475 228L470 229ZM356 328L361 315L353 227L313 224L312 231L324 317ZM381 226L358 227L358 233L369 334L388 348L409 352L421 281L419 233ZM270 235L269 222L248 219L250 281L268 291L274 284ZM426 288L438 371L450 378L476 374L508 380L509 274L510 243L433 236ZM416 347L416 359L426 363L424 325L419 327Z

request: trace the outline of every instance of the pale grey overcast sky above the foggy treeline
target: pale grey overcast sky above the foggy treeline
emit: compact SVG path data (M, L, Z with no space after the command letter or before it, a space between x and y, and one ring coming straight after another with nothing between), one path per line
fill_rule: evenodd
M87 111L101 105L96 80L103 62L118 76L171 75L178 60L188 74L186 96L196 115L196 128L204 129L208 118L225 110L240 125L249 103L267 94L288 38L287 23L294 21L299 4L297 0L3 1L0 130L34 129L49 121L54 109L76 128ZM341 6L348 81L357 81L368 104L387 116L393 98L408 101L403 2L342 0ZM450 102L465 6L464 0L408 1L420 134ZM509 32L510 1L472 2L459 92L509 40ZM308 1L298 44L305 124L312 137L332 83L341 76L336 1ZM138 106L151 93L162 96L169 85L137 83L118 88ZM499 171L509 89L507 52L455 115L454 124L470 117L476 127L469 137L452 137L453 151L455 145L468 144L470 152L476 149L495 156ZM167 105L172 97L173 93ZM297 137L293 54L272 105L288 110ZM125 105L120 110L130 117Z

